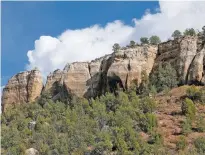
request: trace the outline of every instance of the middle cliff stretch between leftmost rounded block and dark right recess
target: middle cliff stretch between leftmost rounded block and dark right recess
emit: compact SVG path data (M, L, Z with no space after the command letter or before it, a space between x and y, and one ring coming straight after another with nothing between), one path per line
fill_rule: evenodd
M140 83L142 70L151 72L156 54L157 46L144 45L121 49L91 62L67 64L63 71L56 70L47 77L44 91L54 92L56 83L60 83L68 93L90 98L113 91L117 84L127 89L133 80Z

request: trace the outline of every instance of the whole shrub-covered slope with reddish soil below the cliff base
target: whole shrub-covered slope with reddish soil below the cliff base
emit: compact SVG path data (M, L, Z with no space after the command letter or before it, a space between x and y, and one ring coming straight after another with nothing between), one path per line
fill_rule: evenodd
M205 106L199 92L204 88L182 86L150 97L117 91L69 104L43 94L2 115L2 154L29 148L42 155L204 154ZM189 105L182 113L186 97L193 99L194 115ZM191 123L183 123L188 119Z

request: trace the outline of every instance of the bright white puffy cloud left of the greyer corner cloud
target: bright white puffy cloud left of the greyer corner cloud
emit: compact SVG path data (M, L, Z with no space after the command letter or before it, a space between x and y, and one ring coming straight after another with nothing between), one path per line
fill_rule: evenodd
M28 68L38 67L47 74L66 63L89 61L112 52L114 43L124 44L133 34L133 27L121 21L105 27L94 25L79 30L67 30L59 37L41 36L35 41L35 49L28 51Z

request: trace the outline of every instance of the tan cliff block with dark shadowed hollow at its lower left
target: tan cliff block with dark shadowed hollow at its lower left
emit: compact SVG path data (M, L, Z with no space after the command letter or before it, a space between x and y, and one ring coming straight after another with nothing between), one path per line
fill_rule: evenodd
M117 80L123 89L129 88L133 81L141 83L142 71L149 75L156 54L157 46L154 45L137 46L113 53L113 62L107 73L109 83L114 85L113 80Z

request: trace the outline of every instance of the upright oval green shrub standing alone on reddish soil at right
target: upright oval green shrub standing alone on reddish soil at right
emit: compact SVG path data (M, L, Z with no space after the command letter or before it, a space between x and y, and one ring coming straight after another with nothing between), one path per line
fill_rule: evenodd
M186 98L181 105L182 114L186 115L190 120L193 120L196 115L196 107L193 101L189 98Z

